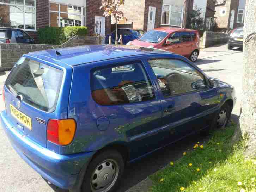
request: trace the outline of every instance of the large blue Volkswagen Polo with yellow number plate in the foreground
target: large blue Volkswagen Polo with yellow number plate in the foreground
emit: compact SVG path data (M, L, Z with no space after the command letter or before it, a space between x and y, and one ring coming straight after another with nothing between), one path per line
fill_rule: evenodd
M23 55L4 85L2 127L20 157L70 191L113 192L124 168L224 127L234 87L157 49L92 45Z

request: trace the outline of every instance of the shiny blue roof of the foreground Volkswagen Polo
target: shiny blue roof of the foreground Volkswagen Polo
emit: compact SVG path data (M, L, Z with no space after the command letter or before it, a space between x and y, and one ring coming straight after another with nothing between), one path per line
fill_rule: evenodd
M42 60L58 61L69 66L92 63L128 56L146 55L151 53L167 53L160 49L153 49L130 45L86 45L70 48L50 49L31 52L29 56Z

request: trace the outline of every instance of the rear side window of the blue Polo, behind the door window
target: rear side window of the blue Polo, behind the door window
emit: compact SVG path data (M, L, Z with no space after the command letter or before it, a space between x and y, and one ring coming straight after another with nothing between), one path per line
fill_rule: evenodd
M155 99L152 83L140 62L93 69L91 95L100 105L121 105Z

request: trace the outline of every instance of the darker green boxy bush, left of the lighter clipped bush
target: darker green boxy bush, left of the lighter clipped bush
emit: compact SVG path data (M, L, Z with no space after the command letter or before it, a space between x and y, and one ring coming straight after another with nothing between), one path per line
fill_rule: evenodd
M60 45L65 42L63 29L60 27L40 28L38 34L40 44Z

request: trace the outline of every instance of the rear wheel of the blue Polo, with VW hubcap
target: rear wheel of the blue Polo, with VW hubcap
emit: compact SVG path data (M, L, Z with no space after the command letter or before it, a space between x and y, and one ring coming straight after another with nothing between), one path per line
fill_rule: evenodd
M83 192L113 192L122 178L124 160L115 150L103 151L92 159L85 173Z

